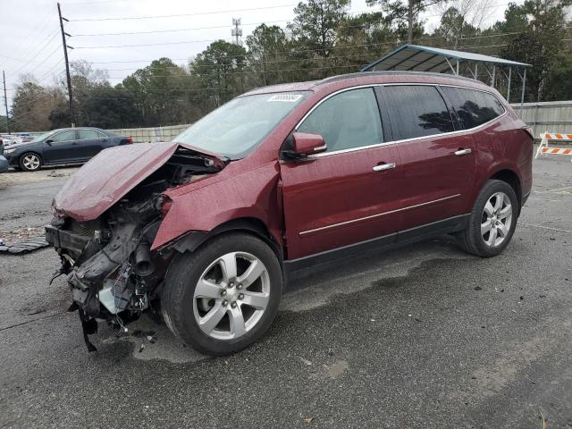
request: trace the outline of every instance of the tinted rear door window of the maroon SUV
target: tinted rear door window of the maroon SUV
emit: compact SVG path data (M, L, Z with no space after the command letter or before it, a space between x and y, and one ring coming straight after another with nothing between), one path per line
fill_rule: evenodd
M453 121L437 88L396 85L383 88L393 139L414 139L453 130Z

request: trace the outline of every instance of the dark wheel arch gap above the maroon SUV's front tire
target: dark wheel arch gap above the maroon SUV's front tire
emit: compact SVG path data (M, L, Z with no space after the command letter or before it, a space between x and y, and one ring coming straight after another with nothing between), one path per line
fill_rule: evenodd
M276 257L278 257L282 263L282 243L273 237L273 234L265 223L256 217L240 217L237 219L231 219L230 221L221 223L211 231L189 231L189 233L176 241L173 248L180 253L186 251L192 252L205 244L206 241L214 239L214 237L238 231L248 232L257 236L259 239L264 240L265 243L273 249Z

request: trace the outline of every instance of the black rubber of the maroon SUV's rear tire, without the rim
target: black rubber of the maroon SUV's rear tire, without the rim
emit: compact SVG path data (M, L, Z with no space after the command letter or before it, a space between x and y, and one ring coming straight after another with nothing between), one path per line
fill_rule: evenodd
M512 220L508 233L504 240L496 246L490 246L484 240L481 233L481 223L483 222L484 206L487 201L497 192L503 192L510 200L510 208L512 212ZM517 227L517 218L520 213L517 194L514 189L506 181L489 180L484 183L483 189L479 192L475 200L475 205L471 211L467 229L457 234L458 244L468 253L479 257L496 257L504 248L509 245L515 228Z

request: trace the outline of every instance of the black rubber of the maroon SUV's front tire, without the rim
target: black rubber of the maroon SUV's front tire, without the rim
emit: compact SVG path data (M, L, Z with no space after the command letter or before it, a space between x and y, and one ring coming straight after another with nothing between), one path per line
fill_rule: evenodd
M265 265L270 297L257 324L238 338L222 340L207 335L198 326L193 307L196 304L194 293L200 276L209 265L231 252L248 252ZM161 308L165 323L185 344L206 355L224 356L245 349L265 334L278 312L281 298L282 269L273 250L253 235L232 232L175 257L165 276Z

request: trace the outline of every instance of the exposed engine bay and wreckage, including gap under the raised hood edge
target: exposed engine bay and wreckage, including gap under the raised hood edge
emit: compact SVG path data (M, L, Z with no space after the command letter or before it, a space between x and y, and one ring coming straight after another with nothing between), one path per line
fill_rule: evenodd
M161 282L173 251L151 251L156 232L171 201L166 189L220 171L213 159L178 147L168 161L131 189L97 219L78 222L55 214L46 226L46 240L54 245L71 288L70 311L79 310L89 351L88 334L97 320L118 330L146 310L156 311Z

